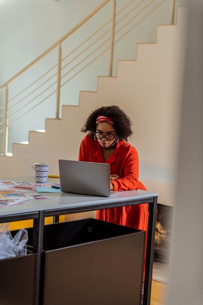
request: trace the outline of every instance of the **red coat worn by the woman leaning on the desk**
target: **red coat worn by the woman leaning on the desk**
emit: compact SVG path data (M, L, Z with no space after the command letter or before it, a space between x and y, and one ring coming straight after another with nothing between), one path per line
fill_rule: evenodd
M111 174L119 176L119 179L111 180L114 190L146 190L138 180L138 153L134 147L125 141L120 140L115 152L104 162L99 142L86 135L80 145L78 160L110 164ZM100 220L147 231L148 204L98 210L96 217Z

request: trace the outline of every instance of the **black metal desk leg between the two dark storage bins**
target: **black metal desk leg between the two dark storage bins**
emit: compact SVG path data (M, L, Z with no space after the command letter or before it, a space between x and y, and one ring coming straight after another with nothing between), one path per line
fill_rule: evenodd
M40 305L40 274L43 247L44 211L39 211L38 220L34 219L33 251L37 253L35 264L34 305Z

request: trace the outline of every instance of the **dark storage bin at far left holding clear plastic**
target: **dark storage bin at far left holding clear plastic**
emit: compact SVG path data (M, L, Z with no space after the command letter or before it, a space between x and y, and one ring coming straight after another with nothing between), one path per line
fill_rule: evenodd
M18 231L12 231L14 236ZM33 305L37 254L0 260L0 305Z

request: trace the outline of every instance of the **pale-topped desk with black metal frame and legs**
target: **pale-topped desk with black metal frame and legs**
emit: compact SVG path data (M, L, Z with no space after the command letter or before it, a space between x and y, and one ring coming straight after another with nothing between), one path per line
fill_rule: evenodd
M2 180L2 179L1 179ZM10 181L31 181L27 177L6 178ZM58 179L49 178L48 183L58 182ZM154 236L156 225L157 193L149 191L121 191L111 197L95 197L70 193L43 193L51 199L28 200L21 205L0 209L0 223L17 220L34 219L33 248L37 253L36 284L34 304L39 304L39 279L41 266L41 253L43 242L44 218L62 214L72 214L91 210L110 209L148 203L148 246L145 270L144 305L150 304L151 279L153 266Z

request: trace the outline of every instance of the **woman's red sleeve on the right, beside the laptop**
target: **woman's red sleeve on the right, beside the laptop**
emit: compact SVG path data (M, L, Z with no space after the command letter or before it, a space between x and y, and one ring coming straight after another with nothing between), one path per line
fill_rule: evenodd
M124 177L111 180L116 191L132 191L138 189L139 158L134 147L125 156Z

